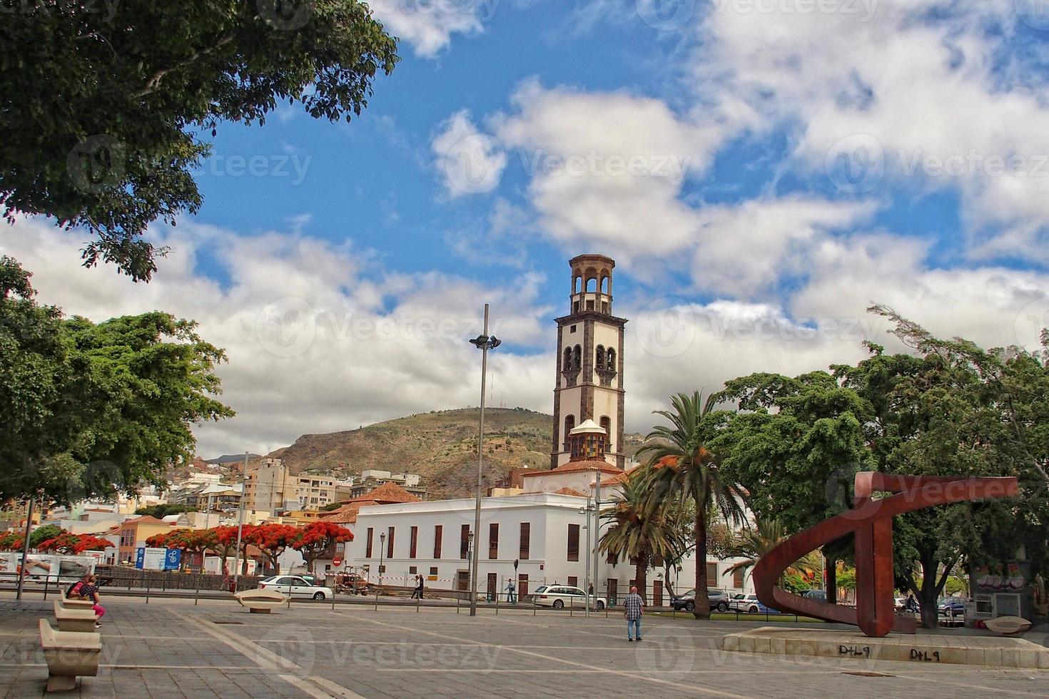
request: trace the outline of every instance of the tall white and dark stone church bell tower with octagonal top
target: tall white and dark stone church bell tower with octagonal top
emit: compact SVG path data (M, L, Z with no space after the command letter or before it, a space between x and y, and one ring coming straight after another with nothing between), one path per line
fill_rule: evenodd
M572 457L569 434L585 420L604 428L603 458L623 468L623 327L612 314L612 270L603 255L569 260L572 292L568 315L557 319L557 383L550 467Z

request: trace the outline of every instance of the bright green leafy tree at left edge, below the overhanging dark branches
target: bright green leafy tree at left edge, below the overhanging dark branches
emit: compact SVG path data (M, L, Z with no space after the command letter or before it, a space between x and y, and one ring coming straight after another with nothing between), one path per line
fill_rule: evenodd
M134 494L193 458L193 424L234 414L215 397L226 355L192 321L64 320L6 257L0 291L0 500Z

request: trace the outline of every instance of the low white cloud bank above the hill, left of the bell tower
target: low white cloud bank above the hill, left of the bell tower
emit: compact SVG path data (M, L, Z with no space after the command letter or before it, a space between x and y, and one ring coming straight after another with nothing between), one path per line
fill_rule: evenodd
M486 300L497 334L529 345L549 331L535 274L489 287L387 271L370 252L297 233L249 237L186 221L154 235L172 254L149 284L110 266L81 267L82 236L42 220L5 226L0 253L34 272L41 302L67 314L98 321L160 309L200 322L200 334L229 354L218 368L222 399L238 413L196 429L202 456L266 452L304 433L476 405L479 356L466 341L480 333ZM227 284L196 268L205 255ZM491 367L506 400L549 409L550 354L500 348Z

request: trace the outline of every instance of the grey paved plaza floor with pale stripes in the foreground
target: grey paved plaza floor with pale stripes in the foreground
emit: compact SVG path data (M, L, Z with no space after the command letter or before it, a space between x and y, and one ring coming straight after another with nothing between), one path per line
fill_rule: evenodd
M742 622L645 620L628 643L616 614L108 597L91 697L1049 696L1049 672L721 651ZM38 619L51 602L0 597L0 686L41 696ZM764 622L762 624L764 626ZM801 625L805 626L805 625ZM63 695L53 695L63 696Z

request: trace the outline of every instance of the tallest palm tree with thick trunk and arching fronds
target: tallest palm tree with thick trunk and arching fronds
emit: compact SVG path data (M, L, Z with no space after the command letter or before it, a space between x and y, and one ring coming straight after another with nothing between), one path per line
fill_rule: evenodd
M695 503L695 618L709 618L707 589L707 520L716 508L726 521L741 523L743 489L722 477L720 460L704 446L704 417L714 401L703 401L699 391L670 397L672 411L657 410L670 421L657 425L638 455L647 457L646 486L649 502L663 507L668 501Z

